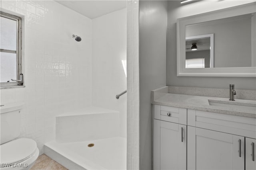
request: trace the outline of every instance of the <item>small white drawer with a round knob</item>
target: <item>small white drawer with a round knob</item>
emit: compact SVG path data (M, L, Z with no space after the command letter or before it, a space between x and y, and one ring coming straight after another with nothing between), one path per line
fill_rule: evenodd
M154 119L187 124L187 109L154 105Z

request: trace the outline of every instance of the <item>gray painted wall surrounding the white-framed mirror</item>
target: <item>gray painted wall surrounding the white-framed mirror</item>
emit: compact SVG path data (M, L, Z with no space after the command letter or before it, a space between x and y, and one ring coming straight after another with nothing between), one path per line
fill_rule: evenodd
M178 18L196 15L212 10L228 8L252 1L198 1L180 4L180 1L168 1L168 30L166 55L167 86L190 86L205 88L229 88L235 84L236 89L256 90L256 78L232 77L177 77L176 76L176 21Z

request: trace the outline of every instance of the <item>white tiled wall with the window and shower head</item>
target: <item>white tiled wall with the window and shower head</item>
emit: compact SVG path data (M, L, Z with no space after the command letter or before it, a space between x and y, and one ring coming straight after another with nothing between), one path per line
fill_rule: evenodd
M55 1L1 0L0 6L23 16L26 86L1 89L1 104L25 103L20 137L34 139L42 154L55 138L56 115L92 105L92 21Z

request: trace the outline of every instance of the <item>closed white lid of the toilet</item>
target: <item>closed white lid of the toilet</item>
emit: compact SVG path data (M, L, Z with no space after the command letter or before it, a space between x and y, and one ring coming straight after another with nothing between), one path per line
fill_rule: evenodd
M1 163L17 163L28 159L36 151L36 142L20 138L0 145Z

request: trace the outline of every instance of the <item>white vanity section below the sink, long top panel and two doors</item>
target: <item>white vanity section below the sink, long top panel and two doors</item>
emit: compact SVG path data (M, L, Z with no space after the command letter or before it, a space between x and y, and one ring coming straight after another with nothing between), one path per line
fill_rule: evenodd
M188 169L256 170L255 118L192 109L187 115Z

